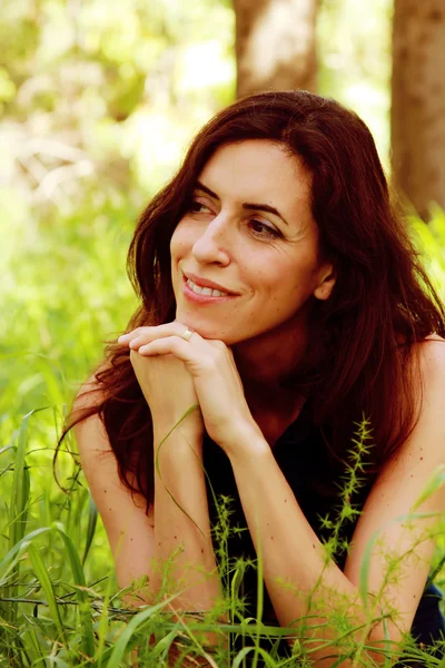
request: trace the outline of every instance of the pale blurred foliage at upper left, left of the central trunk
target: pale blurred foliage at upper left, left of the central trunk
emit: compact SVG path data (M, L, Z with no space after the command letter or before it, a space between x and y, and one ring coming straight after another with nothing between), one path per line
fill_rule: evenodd
M87 194L142 206L235 96L230 0L0 4L0 219L28 230Z

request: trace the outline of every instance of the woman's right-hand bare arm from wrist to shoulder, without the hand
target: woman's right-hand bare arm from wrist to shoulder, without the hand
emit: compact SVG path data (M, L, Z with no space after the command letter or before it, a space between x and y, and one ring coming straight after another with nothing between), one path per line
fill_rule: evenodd
M380 649L385 648L384 625L368 625L369 612L370 618L378 617L380 611L394 612L387 620L392 649L412 626L434 549L433 525L445 509L445 491L439 489L417 510L431 513L429 519L406 519L434 471L445 461L442 418L445 355L442 344L437 346L433 344L431 353L425 347L426 392L419 422L375 483L344 572L332 560L326 561L320 541L299 509L268 444L257 432L247 431L244 435L240 432L234 446L226 449L253 540L263 556L264 577L277 618L281 626L290 626L307 613L314 616L310 623L318 625L318 641L310 640L309 628L307 648L313 650L317 665L334 665L336 658L327 658L328 655L342 651L336 646L338 629L333 623L342 615L354 627L363 625L363 630L354 635L357 644L366 641ZM359 595L360 568L368 542L376 533L379 539L372 550L368 579L368 592L374 596L368 600L367 611ZM388 557L392 563L398 561L394 573ZM298 625L296 629L298 635ZM332 640L334 644L323 649L324 641ZM384 662L384 657L375 651L365 652L366 656ZM347 665L353 661L342 662Z

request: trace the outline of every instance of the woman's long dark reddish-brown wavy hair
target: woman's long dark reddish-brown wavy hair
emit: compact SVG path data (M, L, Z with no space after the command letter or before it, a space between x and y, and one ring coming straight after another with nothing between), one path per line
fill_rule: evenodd
M329 299L313 301L312 341L317 344L288 383L313 397L314 421L329 425L329 448L338 460L349 449L354 421L365 414L378 470L417 420L419 383L408 364L413 344L432 333L445 336L445 314L405 220L392 205L368 128L338 102L306 91L259 94L224 109L200 130L179 171L137 224L128 273L140 306L127 331L175 320L171 235L215 150L247 139L276 141L303 160L312 175L320 248L337 273ZM96 381L99 392L88 407L72 412L65 433L98 414L121 480L141 492L149 508L152 423L129 351L110 343Z

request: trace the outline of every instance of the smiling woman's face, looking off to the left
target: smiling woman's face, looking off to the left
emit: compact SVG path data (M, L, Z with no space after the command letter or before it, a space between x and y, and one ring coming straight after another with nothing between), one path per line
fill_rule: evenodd
M267 140L214 154L170 253L176 318L227 345L298 326L310 296L327 298L335 282L318 257L310 178Z

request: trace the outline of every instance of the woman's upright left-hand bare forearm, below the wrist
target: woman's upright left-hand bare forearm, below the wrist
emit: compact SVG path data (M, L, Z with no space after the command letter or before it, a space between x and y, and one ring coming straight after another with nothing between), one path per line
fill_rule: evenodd
M176 610L208 611L219 593L202 468L202 442L179 426L160 445L168 428L155 429L155 553L167 564L180 592ZM159 448L160 445L160 448ZM156 589L159 589L159 573Z

